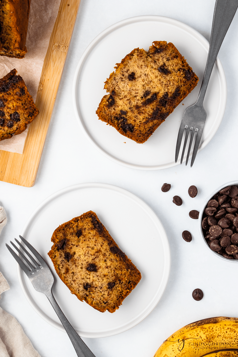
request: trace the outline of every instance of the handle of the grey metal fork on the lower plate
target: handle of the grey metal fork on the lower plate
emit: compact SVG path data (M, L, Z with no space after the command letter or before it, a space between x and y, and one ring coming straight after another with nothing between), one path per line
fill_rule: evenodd
M65 331L69 335L69 338L75 348L78 357L95 357L92 351L87 347L87 345L83 342L81 337L77 334L74 328L70 325L69 321L61 311L61 308L57 304L53 294L51 291L45 293L51 305L53 306L55 312L57 313L62 325L65 328Z

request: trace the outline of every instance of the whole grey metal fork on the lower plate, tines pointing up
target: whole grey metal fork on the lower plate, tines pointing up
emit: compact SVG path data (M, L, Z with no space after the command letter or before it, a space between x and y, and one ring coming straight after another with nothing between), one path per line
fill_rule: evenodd
M69 321L65 317L65 315L62 313L59 305L55 301L55 298L52 294L52 286L54 284L54 276L52 275L50 268L42 258L42 256L35 250L35 248L30 245L29 242L27 242L23 237L19 236L22 240L22 242L25 243L25 245L29 248L29 250L34 254L34 257L26 250L26 248L17 240L15 241L19 244L21 249L26 253L26 255L30 258L32 261L32 264L22 253L22 251L14 244L11 242L11 244L14 246L16 251L22 256L22 258L25 260L27 265L30 267L27 267L27 265L21 260L21 258L12 250L11 247L9 247L8 244L6 244L8 250L10 253L13 255L13 257L16 259L17 263L19 263L20 267L24 270L28 278L30 279L30 282L34 286L36 291L42 292L45 294L50 301L51 305L53 306L55 312L57 313L62 325L65 328L65 331L69 335L69 338L75 348L75 351L77 353L78 357L95 357L93 353L90 351L90 349L85 345L83 340L81 340L80 336L77 334L77 332L74 330L74 328L70 325ZM39 261L39 263L36 261L36 259Z

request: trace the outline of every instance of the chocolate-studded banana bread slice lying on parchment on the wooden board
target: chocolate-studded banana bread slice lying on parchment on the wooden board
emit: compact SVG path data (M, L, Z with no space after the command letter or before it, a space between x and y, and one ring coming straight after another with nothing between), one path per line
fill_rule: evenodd
M24 80L13 69L0 79L0 140L21 134L39 114Z

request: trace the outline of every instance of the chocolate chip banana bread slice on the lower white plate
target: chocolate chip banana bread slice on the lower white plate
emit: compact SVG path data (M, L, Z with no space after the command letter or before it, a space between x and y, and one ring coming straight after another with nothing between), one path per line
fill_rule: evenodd
M56 228L51 241L48 255L61 280L98 311L116 311L141 279L92 211Z

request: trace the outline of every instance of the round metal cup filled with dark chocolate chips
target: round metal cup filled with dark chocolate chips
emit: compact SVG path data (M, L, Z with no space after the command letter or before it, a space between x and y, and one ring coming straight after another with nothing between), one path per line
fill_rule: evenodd
M238 262L238 182L213 192L199 219L208 248L222 259Z

